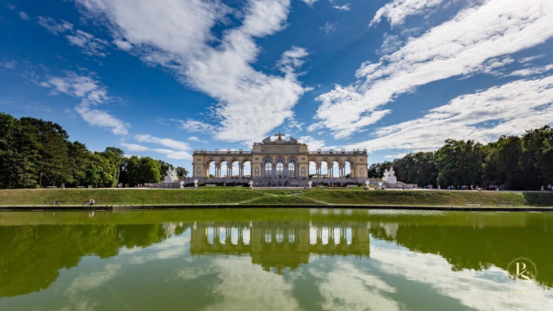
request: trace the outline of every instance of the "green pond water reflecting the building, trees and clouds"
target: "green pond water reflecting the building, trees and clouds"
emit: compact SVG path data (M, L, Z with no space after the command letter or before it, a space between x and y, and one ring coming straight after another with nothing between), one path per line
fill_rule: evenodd
M553 213L0 212L0 310L551 310L552 242Z

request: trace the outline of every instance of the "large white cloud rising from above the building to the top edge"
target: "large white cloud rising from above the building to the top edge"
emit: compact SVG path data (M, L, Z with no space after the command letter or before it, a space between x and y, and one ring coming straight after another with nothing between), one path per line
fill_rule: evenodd
M255 39L285 27L289 0L248 2L240 25L226 29L215 46L211 28L231 11L216 1L77 2L89 17L107 18L114 37L132 44L143 61L217 99L211 118L220 124L212 132L217 139L248 140L272 130L293 115L306 91L293 72L273 76L251 66L259 53Z

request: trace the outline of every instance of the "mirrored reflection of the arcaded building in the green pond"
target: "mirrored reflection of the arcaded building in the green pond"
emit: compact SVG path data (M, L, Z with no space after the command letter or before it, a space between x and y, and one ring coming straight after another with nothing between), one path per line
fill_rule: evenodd
M316 222L233 222L192 225L192 257L248 255L265 271L282 274L312 255L369 257L367 223L338 226Z

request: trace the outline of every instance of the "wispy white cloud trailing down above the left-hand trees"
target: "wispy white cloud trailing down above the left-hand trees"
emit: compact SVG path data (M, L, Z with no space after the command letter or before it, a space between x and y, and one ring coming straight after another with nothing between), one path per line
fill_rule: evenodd
M113 134L127 135L129 124L105 110L95 108L109 102L107 88L91 76L79 76L66 71L65 77L49 76L40 86L51 88L51 94L64 93L81 99L75 111L92 126L108 128Z

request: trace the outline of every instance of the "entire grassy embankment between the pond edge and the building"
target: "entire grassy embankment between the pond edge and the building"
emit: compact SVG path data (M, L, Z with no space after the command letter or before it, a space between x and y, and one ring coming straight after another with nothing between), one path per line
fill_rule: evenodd
M492 191L364 191L361 188L261 189L20 189L0 190L0 205L44 205L65 201L81 205L95 199L98 205L253 204L253 205L398 205L464 206L481 202L486 207L514 203L518 207L553 207L553 193ZM47 204L48 204L47 203ZM86 206L86 205L83 205Z

